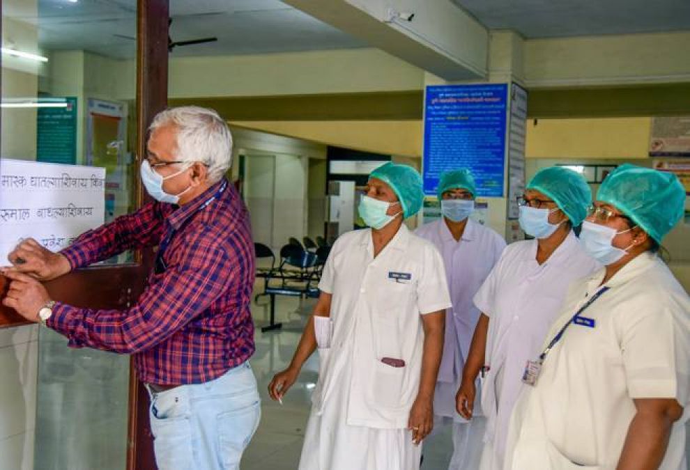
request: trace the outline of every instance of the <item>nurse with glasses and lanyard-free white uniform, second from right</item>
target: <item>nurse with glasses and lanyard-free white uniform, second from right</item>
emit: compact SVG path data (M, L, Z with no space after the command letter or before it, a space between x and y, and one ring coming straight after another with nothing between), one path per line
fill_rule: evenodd
M509 418L523 386L525 363L542 345L567 286L599 268L572 230L582 223L591 202L590 188L578 173L560 166L537 172L518 201L520 226L535 240L507 246L475 295L482 315L456 405L464 418L473 416L475 379L481 372L486 416L481 469L503 467Z

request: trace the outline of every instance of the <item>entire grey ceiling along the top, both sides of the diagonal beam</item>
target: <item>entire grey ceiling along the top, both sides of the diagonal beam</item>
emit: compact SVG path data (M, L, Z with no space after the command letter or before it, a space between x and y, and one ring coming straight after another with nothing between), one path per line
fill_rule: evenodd
M3 16L38 25L40 47L135 56L136 0L4 0ZM690 30L690 0L447 0L489 29L526 38ZM174 56L367 47L280 0L170 0L171 38L216 36ZM5 38L7 40L8 38Z

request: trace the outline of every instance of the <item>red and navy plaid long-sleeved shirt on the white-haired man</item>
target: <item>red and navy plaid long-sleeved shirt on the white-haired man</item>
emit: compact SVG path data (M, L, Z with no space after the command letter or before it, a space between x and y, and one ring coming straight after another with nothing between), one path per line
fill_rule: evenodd
M151 273L135 306L93 310L58 302L47 325L71 347L133 354L142 382L208 382L254 353L254 244L233 185L223 180L177 210L150 203L89 230L61 253L75 269L158 245L168 230L174 234L162 256L165 269Z

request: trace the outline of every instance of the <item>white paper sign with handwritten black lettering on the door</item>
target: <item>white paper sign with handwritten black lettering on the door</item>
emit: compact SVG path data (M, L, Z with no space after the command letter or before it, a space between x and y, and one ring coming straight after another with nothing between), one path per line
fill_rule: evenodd
M105 169L0 161L0 265L24 238L59 251L104 215Z

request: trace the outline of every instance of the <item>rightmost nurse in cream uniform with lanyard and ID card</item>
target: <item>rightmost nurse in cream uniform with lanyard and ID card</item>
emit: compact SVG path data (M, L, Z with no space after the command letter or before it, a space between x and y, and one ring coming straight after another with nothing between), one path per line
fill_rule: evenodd
M604 180L580 240L606 267L572 285L531 358L506 469L686 469L690 299L657 256L684 203L672 173Z

